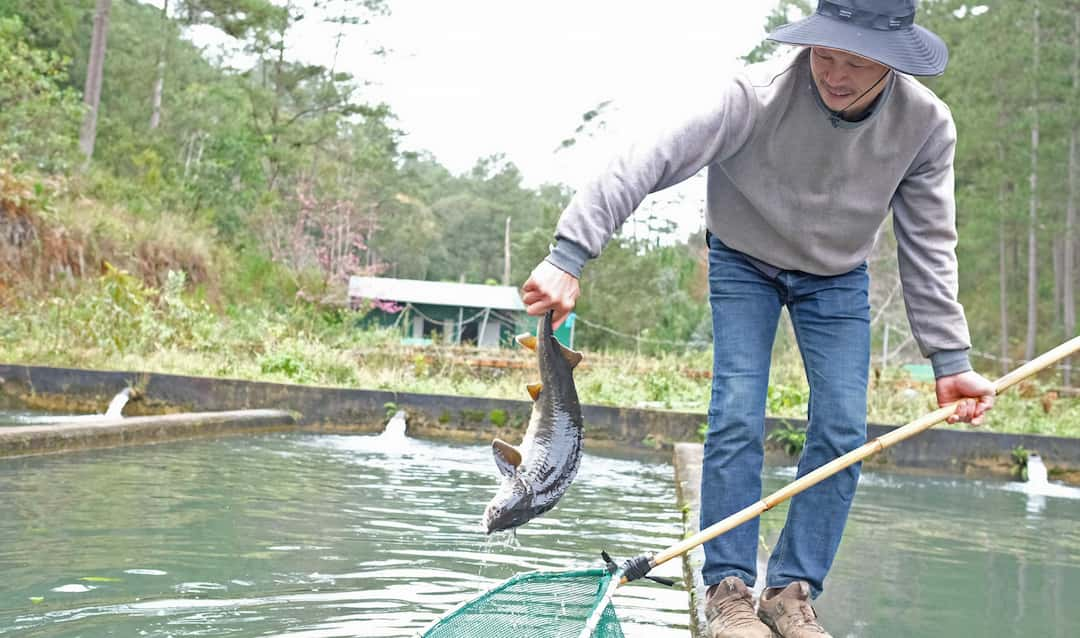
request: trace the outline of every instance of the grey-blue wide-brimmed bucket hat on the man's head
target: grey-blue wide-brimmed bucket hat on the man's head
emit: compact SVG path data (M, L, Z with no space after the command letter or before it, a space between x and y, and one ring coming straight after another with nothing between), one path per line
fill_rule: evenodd
M770 40L827 46L909 76L941 76L948 47L915 24L915 0L820 0L813 15L783 25Z

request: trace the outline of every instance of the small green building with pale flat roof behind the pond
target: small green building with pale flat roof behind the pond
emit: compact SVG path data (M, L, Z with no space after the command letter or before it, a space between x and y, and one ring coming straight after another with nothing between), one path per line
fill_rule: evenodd
M536 327L513 286L353 276L349 304L370 308L366 321L399 326L413 343L435 340L498 348Z

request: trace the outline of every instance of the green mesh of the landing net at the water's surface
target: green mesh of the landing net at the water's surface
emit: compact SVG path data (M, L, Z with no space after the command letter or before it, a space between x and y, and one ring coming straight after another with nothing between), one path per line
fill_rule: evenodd
M603 606L593 638L622 638L604 569L518 574L450 611L423 638L578 638Z

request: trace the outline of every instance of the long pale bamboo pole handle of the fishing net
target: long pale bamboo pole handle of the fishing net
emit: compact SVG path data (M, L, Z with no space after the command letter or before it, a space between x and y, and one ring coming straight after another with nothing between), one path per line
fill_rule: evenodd
M1038 357L1029 361L1028 363L1020 366L1015 370L1009 372L1008 375L1001 377L994 382L995 394L1001 394L1009 388L1012 388L1016 383L1020 383L1024 379L1039 372L1050 366L1056 364L1057 362L1066 358L1072 354L1080 351L1080 337L1074 337L1065 343L1039 355ZM731 516L715 522L707 528L701 530L700 532L685 539L684 541L672 545L671 547L659 552L649 557L649 569L667 562L676 556L681 556L690 549L693 549L698 545L701 545L707 541L715 539L716 537L723 534L724 532L739 527L740 525L756 518L764 514L765 512L771 510L778 504L791 499L795 494L810 488L822 480L828 478L829 476L845 470L850 465L862 461L863 459L875 454L888 447L891 447L902 440L910 438L916 434L919 434L930 427L933 427L937 423L941 423L945 419L948 419L956 412L957 404L949 404L947 406L937 408L936 410L910 423L897 427L888 434L883 434L874 440L870 440L863 446L851 450L850 452L838 457L833 461L818 467L813 472L810 472L798 478L786 486L780 488L779 490L772 492L768 497L761 499L757 503L744 507L739 512L735 512ZM621 580L620 584L625 584L627 581L625 576Z

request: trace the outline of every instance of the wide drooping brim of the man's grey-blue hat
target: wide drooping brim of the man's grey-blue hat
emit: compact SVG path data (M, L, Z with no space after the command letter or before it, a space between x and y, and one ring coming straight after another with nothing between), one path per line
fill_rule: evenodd
M909 76L941 76L948 64L945 42L918 25L882 31L815 13L779 27L768 38L785 44L839 49Z

